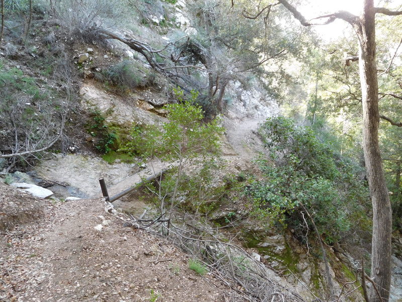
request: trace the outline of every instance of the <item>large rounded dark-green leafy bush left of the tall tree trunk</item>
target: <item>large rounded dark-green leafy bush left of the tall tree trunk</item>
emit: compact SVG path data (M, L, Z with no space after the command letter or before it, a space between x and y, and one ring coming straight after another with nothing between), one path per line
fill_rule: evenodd
M365 221L367 186L357 168L319 142L310 128L269 118L259 134L269 158L258 160L264 179L248 189L256 216L301 232L301 225L311 223L304 205L328 243L340 240L357 220Z

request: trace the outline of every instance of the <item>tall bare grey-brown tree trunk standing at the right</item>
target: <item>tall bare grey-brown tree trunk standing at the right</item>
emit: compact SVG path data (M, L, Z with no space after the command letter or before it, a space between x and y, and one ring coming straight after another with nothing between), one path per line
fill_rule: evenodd
M359 38L364 160L373 205L371 278L377 284L383 301L386 302L389 300L391 275L392 213L378 143L379 113L374 17L373 0L365 0L364 11L355 28ZM370 289L369 296L371 302L381 301L381 297L373 287Z

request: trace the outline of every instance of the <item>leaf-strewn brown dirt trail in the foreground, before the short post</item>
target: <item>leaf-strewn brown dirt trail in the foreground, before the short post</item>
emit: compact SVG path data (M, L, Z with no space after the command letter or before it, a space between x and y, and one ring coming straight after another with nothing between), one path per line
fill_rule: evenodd
M125 217L103 199L49 204L41 220L0 236L0 301L223 301L220 282Z

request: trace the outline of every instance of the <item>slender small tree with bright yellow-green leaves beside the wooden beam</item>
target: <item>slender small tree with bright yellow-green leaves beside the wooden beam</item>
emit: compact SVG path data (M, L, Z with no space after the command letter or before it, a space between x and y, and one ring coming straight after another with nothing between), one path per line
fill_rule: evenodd
M143 156L159 156L163 161L178 162L170 198L168 228L172 210L179 203L177 193L185 164L190 164L195 159L205 163L219 156L219 134L223 133L219 118L209 123L202 122L203 110L193 105L198 96L197 92L192 91L190 99L184 100L182 90L174 91L179 102L165 107L169 121L161 128L149 126L143 130L135 126L131 131L133 139L127 144L127 149L135 150ZM164 215L162 200L161 214Z

